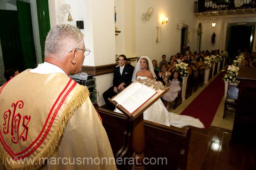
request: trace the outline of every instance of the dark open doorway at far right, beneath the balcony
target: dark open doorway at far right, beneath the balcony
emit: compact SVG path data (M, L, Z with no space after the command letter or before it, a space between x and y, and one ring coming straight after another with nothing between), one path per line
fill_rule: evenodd
M227 32L229 32L230 36L226 38L226 41L228 41L227 51L229 63L232 63L236 56L239 55L238 51L252 53L255 23L244 23L244 25L230 24L228 29Z

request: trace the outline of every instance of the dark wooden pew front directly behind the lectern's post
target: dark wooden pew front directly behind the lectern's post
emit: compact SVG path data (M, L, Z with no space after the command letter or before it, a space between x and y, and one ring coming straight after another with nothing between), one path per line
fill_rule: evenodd
M108 134L115 159L131 158L132 151L132 121L125 115L116 113L94 105L103 126ZM145 125L145 162L158 161L163 158L163 165L145 165L146 170L186 170L187 156L189 151L189 140L191 128L176 128L164 126L158 123L144 120ZM151 158L151 159L150 159ZM118 165L119 170L131 170L132 165ZM161 159L159 159L161 162ZM167 160L167 165L165 160Z

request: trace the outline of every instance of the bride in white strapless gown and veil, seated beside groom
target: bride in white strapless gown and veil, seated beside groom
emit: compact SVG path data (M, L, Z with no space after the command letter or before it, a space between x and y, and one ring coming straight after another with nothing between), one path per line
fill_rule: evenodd
M147 78L156 79L156 75L154 73L154 67L150 58L143 56L139 58L139 61L134 69L132 82L134 82L136 79ZM118 109L115 109L114 112L121 113ZM161 99L158 99L147 110L145 110L143 116L147 121L156 122L166 126L171 125L178 128L182 128L184 126L195 126L198 128L204 128L204 124L202 124L199 119L168 112Z

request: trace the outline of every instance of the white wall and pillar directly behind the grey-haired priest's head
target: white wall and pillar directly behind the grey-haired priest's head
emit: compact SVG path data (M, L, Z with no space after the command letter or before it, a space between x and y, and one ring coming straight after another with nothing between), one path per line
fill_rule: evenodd
M60 9L64 4L70 5L72 22L67 21L67 13L61 13ZM91 49L83 65L99 66L115 63L114 0L54 0L49 3L49 13L51 27L56 24L76 26L77 20L83 20L84 29L81 31L85 36L85 47ZM113 73L95 78L97 90L100 92L98 104L102 105L105 104L102 93L112 86Z

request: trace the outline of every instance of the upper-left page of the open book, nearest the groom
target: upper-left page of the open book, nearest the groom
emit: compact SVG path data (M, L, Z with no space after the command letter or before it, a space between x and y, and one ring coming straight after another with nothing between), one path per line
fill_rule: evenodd
M139 82L135 82L132 83L129 88L126 88L124 90L121 91L121 93L117 96L115 96L112 100L118 102L119 104L121 104L122 102L124 102L132 93L134 93L134 91L138 90L139 88L141 88L142 84L140 84Z

